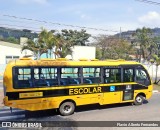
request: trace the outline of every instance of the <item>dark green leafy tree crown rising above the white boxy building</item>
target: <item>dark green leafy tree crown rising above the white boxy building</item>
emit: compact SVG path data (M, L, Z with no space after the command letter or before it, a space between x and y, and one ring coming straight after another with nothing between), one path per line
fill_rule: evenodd
M85 46L91 35L86 33L84 29L81 31L64 29L62 30L62 36L73 45Z

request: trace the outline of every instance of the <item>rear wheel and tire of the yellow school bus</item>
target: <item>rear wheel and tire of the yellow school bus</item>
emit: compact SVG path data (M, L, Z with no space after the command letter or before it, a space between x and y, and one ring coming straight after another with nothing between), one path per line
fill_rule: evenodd
M75 104L73 102L63 102L59 107L59 113L62 116L68 116L74 113Z

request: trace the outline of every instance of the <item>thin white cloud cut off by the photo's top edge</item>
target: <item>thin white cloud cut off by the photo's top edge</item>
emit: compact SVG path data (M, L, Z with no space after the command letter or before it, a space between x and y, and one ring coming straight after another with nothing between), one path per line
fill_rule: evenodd
M15 0L20 4L37 3L37 4L47 4L48 0Z

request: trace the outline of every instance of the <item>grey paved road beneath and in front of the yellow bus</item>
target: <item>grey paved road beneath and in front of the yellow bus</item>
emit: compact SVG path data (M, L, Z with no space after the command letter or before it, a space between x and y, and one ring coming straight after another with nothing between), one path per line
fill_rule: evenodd
M71 116L60 116L55 111L26 112L17 109L10 113L9 109L0 109L0 120L25 120L25 121L160 121L160 93L153 94L152 98L141 106L132 106L130 104L116 105L89 105L76 109ZM49 128L48 128L49 129ZM47 130L48 130L47 129ZM74 129L111 129L121 128L74 128ZM128 128L123 128L128 130ZM136 128L131 128L136 129ZM138 128L148 129L151 128ZM159 129L159 128L152 128ZM67 128L68 130L68 128Z

